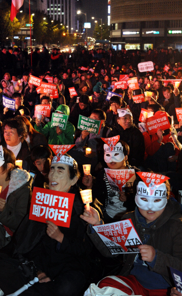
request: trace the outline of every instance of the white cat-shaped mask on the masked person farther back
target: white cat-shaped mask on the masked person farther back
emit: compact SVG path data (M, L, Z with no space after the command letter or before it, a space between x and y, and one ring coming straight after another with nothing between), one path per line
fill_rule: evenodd
M123 146L117 143L114 147L109 147L107 144L103 145L105 151L104 159L106 163L120 162L124 159Z

